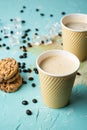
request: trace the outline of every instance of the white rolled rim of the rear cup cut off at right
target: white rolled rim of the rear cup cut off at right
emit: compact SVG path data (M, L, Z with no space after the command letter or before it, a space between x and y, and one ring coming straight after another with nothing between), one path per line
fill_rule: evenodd
M67 14L65 16L63 16L60 20L60 23L61 23L61 26L64 27L65 29L69 30L69 31L73 31L73 32L87 32L87 30L75 30L75 29L71 29L71 28L68 28L67 26L65 26L63 24L63 19L65 19L66 17L69 17L69 16L86 16L87 17L87 14L83 14L83 13L71 13L71 14Z

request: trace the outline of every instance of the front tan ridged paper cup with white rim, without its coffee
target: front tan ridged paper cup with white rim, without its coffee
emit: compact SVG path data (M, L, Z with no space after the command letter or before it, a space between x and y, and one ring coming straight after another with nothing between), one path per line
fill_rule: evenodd
M55 54L58 56L63 55L73 60L73 63L76 65L74 72L64 75L45 72L40 67L40 63L45 58ZM40 87L44 103L50 108L61 108L66 106L70 100L76 73L80 66L79 59L74 54L64 50L48 50L39 55L36 60L36 65L39 70Z

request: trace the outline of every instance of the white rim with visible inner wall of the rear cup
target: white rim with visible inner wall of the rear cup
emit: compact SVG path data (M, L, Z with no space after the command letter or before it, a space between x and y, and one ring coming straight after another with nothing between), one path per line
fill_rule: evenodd
M78 21L79 19L79 22L84 22L84 23L87 23L87 14L82 14L82 13L74 13L74 14L68 14L68 15L65 15L64 17L61 18L61 26L66 28L67 30L70 30L70 31L74 31L74 32L87 32L87 30L76 30L76 29L71 29L69 27L67 27L64 23L64 21L67 19L70 19L70 18L73 18L72 22L76 22ZM67 21L67 23L70 23L69 21Z

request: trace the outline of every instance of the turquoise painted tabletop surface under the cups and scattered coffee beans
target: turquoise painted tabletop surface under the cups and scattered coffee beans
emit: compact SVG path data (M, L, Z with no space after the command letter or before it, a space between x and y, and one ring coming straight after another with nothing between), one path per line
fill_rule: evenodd
M23 5L26 6L24 13L20 13ZM35 9L40 11L36 12ZM26 20L20 31L31 28L29 37L32 38L35 28L39 28L39 34L47 34L48 27L59 22L61 12L69 13L87 13L86 0L0 0L0 29L10 27L14 30L14 24L10 22L11 18L20 18ZM40 13L45 16L41 17ZM49 17L50 14L54 17ZM16 30L17 31L17 30ZM2 33L0 33L2 37ZM2 38L3 39L3 38ZM18 45L12 45L10 39L3 39L0 44L6 43L6 47L0 48L0 59L4 57L14 57L17 61L26 62L27 68L34 68L38 53L28 51L27 59L20 59L19 55L23 52L19 46L24 45L19 38ZM32 42L32 40L31 40ZM87 87L77 85L73 88L71 103L62 109L47 108L41 98L39 77L34 72L31 74L21 73L28 84L23 85L15 93L4 93L0 91L0 130L87 130ZM34 77L36 87L32 88L32 81L28 81L28 76ZM38 100L37 104L32 103L32 99ZM29 104L23 106L22 100L28 100ZM31 109L33 114L26 115L26 109Z

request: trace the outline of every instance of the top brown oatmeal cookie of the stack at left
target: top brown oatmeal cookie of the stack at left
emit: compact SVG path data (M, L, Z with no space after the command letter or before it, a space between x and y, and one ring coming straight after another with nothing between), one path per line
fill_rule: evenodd
M13 58L0 60L0 82L12 78L18 71L18 63Z

